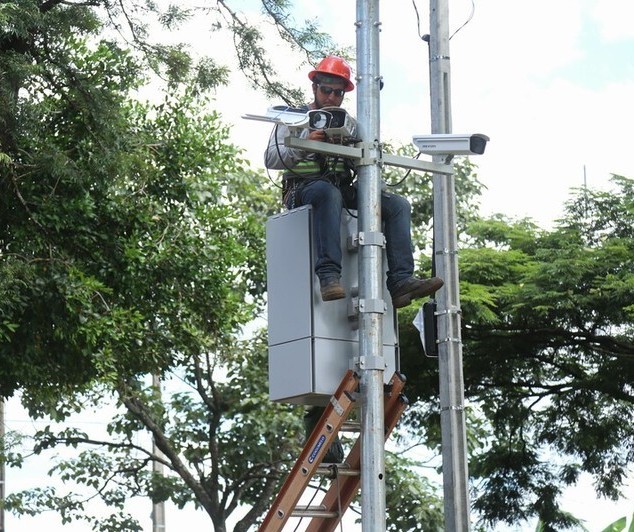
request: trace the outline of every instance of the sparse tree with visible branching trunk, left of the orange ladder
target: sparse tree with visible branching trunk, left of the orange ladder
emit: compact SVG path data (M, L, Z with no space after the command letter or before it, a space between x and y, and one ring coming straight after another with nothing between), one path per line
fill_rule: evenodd
M105 532L142 530L127 511L135 497L147 504L171 500L179 508L202 508L222 532L230 530L227 520L235 510L249 505L231 530L250 529L298 455L302 437L297 408L268 400L265 367L266 345L256 338L222 357L190 357L166 373L163 393L141 380L121 381L115 388L120 408L105 433L57 425L35 435L38 454L77 448L49 471L68 487L10 494L8 508L27 514L52 509L63 522L83 521ZM154 461L164 473L149 467ZM88 506L95 498L106 517L94 513L94 503L92 511Z

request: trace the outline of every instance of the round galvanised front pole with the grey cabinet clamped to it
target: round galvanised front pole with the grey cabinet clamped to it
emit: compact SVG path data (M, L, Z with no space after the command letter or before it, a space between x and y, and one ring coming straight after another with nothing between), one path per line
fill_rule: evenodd
M383 421L383 235L379 112L379 2L357 0L357 121L366 156L359 183L359 368L361 372L361 528L385 530Z

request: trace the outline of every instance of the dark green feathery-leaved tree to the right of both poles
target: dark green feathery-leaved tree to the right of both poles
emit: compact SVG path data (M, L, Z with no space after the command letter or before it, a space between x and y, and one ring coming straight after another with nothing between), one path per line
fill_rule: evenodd
M587 472L616 499L631 473L634 182L613 182L577 191L551 231L498 216L463 235L465 395L489 433L470 473L485 523L575 525L558 505L563 488ZM417 336L402 330L404 371L426 405L415 424L434 438L436 364Z

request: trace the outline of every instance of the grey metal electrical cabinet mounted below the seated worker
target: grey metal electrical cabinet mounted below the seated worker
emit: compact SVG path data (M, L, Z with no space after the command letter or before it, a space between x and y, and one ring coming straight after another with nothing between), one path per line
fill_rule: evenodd
M358 364L358 231L356 217L344 210L341 282L346 297L324 302L313 267L311 214L307 205L272 216L266 225L269 395L273 401L325 405L345 372ZM399 353L385 258L383 262L387 383L399 369Z

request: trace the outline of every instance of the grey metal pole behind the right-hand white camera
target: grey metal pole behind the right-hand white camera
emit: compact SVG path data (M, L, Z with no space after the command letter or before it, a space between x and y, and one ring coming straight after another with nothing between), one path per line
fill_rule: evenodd
M430 93L433 133L451 133L449 13L447 0L430 1ZM435 156L434 162L443 161ZM445 281L438 292L438 370L442 433L445 530L469 530L467 438L460 335L460 290L456 236L455 180L433 174L434 259Z

